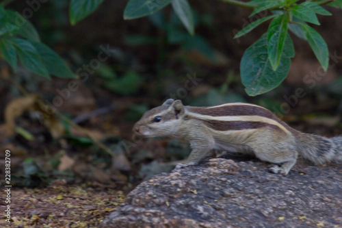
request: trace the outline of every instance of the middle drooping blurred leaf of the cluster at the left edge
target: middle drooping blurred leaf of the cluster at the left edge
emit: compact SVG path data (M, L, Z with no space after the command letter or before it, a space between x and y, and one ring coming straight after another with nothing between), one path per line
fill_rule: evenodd
M37 49L31 45L31 42L21 38L14 38L13 42L21 63L33 73L50 79L49 72L42 62L40 54L38 53Z

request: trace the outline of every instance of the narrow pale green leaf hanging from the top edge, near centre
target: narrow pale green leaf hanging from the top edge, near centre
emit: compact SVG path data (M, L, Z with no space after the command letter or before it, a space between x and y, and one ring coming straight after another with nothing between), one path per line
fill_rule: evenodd
M181 19L189 34L194 35L194 16L192 15L192 10L187 0L172 0L171 4L174 12L179 16L179 19Z

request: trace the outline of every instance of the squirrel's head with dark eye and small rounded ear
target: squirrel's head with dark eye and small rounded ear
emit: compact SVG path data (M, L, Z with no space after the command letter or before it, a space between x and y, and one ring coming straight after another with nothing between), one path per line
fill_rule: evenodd
M133 132L145 137L172 136L184 113L181 100L168 99L162 105L145 112L140 121L135 123Z

